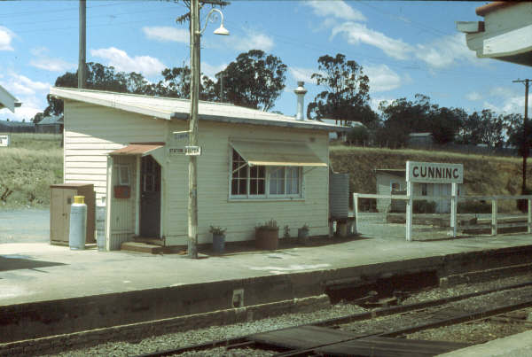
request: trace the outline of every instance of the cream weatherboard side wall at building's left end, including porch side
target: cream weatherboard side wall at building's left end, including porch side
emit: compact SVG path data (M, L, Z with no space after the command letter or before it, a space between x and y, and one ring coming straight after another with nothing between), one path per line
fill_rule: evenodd
M136 142L165 140L166 123L97 105L65 101L64 182L93 183L97 200L106 197L107 153ZM130 164L131 197L113 199L111 249L135 234L137 165L134 157L115 156L113 164ZM113 185L118 184L113 172ZM106 198L108 203L109 198Z

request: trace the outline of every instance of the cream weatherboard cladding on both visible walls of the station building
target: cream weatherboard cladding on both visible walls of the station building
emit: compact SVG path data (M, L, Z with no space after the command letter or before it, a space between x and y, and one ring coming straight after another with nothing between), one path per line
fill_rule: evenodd
M97 197L106 196L107 154L130 143L172 144L172 132L187 129L184 120L152 120L137 113L102 105L65 101L65 182L94 183ZM326 131L253 125L239 126L206 121L200 125L200 144L204 154L199 162L199 239L210 243L210 225L227 228L227 240L254 238L254 227L271 218L279 226L296 229L307 223L311 234L328 233L328 170L326 167L302 167L303 199L231 200L229 199L230 139L306 142L320 161L329 163ZM310 137L314 138L313 140ZM134 158L133 156L129 156ZM114 160L120 156L114 156ZM116 163L116 162L115 162ZM162 167L161 235L167 245L186 244L188 158L168 156ZM134 167L132 167L134 168ZM134 172L132 170L132 172ZM136 175L136 174L135 174ZM113 173L113 180L116 174ZM137 182L131 177L131 182ZM121 242L135 231L133 190L129 200L113 200L113 241ZM117 203L120 202L120 203ZM118 205L118 206L117 206ZM116 221L118 217L118 222ZM113 245L116 247L116 244Z

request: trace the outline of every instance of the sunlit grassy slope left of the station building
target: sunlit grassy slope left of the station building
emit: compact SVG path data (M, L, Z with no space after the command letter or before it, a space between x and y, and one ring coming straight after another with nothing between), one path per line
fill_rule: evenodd
M60 135L11 134L10 146L0 147L0 207L50 204L50 185L63 182L60 143Z

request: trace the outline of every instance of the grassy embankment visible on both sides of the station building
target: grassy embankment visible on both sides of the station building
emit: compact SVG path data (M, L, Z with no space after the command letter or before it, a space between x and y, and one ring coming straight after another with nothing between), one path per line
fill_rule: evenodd
M12 134L12 144L0 147L0 197L6 189L12 194L0 199L0 207L48 206L49 186L63 178L61 136L52 134ZM350 174L350 189L374 193L374 168L404 168L406 160L464 164L469 195L516 195L520 193L521 160L442 151L388 150L331 146L335 171ZM532 169L532 164L529 164ZM532 170L531 170L532 171ZM530 175L530 174L528 174ZM532 175L530 177L532 182ZM507 202L514 206L514 203ZM501 207L502 208L502 207Z

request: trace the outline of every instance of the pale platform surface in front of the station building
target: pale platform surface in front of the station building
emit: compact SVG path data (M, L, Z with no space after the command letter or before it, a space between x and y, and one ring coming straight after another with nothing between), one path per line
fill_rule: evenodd
M72 251L46 243L0 244L0 306L192 283L443 257L528 246L532 235L412 241L370 237L319 246L232 252L190 260L184 255ZM201 252L201 251L200 251Z

